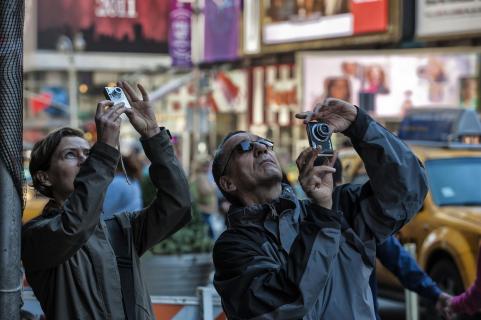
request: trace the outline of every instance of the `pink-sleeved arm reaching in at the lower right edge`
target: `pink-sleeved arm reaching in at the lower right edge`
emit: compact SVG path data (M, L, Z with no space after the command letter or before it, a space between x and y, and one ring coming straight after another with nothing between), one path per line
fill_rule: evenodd
M446 319L455 319L456 314L479 316L481 310L481 248L478 250L476 280L465 292L449 297L443 306ZM476 318L478 319L478 317Z

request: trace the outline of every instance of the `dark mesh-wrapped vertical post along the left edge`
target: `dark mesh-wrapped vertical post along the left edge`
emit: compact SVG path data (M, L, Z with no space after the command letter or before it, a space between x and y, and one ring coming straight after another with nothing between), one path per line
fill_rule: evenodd
M0 319L19 319L24 1L0 1Z

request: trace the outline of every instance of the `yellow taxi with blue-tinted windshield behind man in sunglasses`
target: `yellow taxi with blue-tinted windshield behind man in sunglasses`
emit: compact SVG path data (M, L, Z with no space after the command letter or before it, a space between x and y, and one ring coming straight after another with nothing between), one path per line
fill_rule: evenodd
M426 168L429 193L397 236L402 243L416 244L421 268L452 294L474 282L481 240L481 123L466 111L420 109L399 130ZM339 158L344 182L368 179L352 149L340 150ZM381 294L400 292L397 279L379 263L377 278Z

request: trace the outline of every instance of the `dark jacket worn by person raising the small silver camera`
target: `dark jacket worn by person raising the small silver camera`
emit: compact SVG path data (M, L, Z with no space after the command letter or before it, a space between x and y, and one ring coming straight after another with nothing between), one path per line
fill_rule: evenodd
M136 319L154 319L140 274L139 257L190 220L187 179L165 130L141 140L152 162L157 198L145 209L119 214L133 263ZM27 280L49 320L125 319L116 256L101 208L119 152L96 143L63 207L47 205L22 229L22 261Z

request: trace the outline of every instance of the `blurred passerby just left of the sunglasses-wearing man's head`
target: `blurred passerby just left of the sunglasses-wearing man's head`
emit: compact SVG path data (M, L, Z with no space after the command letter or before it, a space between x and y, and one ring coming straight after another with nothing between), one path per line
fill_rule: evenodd
M216 187L209 179L210 159L207 157L197 161L191 181L192 200L199 209L204 223L209 228L209 236L214 239L212 217L218 214Z

